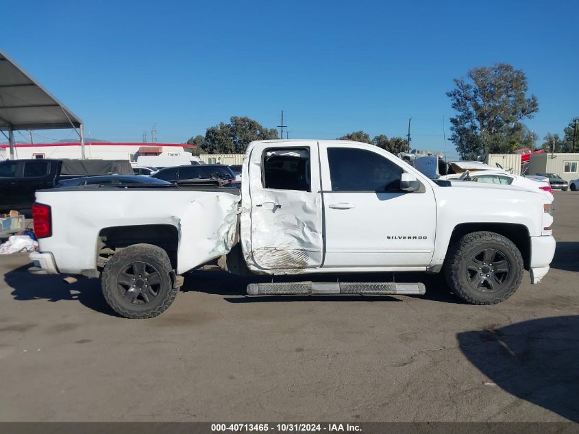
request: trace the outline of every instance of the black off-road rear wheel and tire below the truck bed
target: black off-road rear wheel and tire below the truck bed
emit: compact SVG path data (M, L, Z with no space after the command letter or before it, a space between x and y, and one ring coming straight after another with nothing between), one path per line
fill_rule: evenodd
M125 318L152 318L171 306L171 261L162 248L134 244L110 258L101 276L103 296L113 311Z

